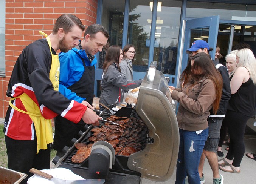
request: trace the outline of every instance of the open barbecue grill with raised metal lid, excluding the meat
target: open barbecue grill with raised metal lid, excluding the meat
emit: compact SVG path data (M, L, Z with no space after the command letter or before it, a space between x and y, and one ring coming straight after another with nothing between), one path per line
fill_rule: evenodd
M89 173L88 158L80 164L73 163L71 158L76 154L76 143L92 143L89 138L93 136L93 127L90 126L78 140L74 140L72 147L66 148L67 152L62 158L54 159L55 167L70 169L85 179L104 178L106 184L139 184L141 178L167 181L176 166L179 147L178 123L171 102L168 83L164 75L156 70L156 62L152 61L141 83L137 105L133 108L123 107L127 108L126 116L127 112L131 113L118 145L133 147L138 151L130 156L116 153L115 164L107 175ZM116 113L117 116L124 116L123 108ZM100 124L104 122L100 120Z

